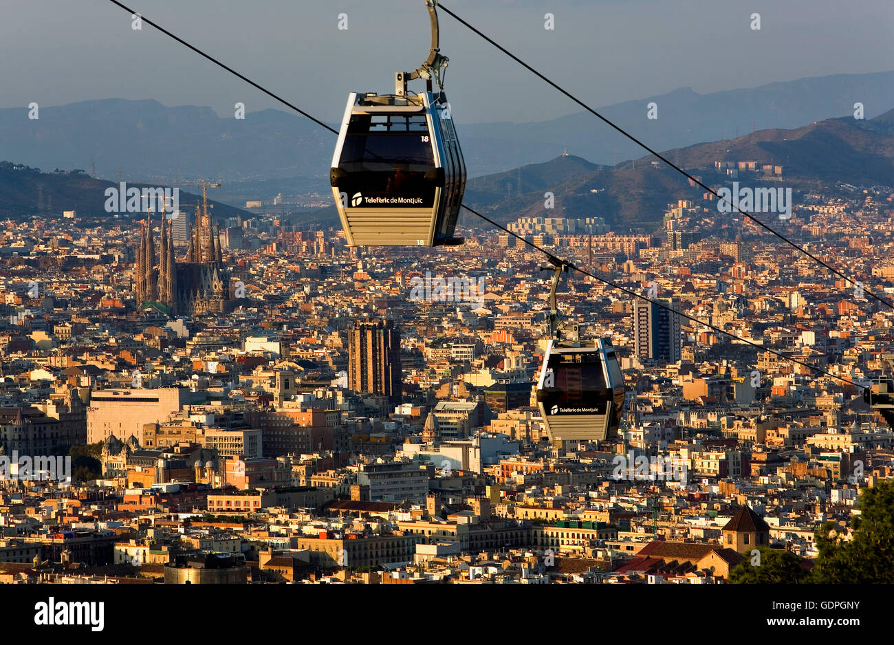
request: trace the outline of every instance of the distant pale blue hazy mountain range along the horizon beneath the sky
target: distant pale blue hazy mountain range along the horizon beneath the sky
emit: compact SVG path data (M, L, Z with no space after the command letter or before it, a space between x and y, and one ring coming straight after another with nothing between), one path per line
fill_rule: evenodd
M586 96L586 88L578 92ZM300 104L300 96L295 100ZM460 122L470 177L542 162L565 148L570 155L601 164L642 155L641 148L585 112L552 121L510 122L512 102L519 100L566 101L569 109L574 107L544 87L537 96L507 93L505 122ZM867 119L890 109L894 71L838 74L705 95L681 88L597 109L650 147L667 150L851 115L856 102L864 105ZM656 120L646 118L650 103L657 106ZM454 107L461 116L461 106ZM208 107L166 107L154 100L41 106L35 121L28 119L25 107L6 108L0 110L0 159L45 171L80 168L88 173L92 162L97 177L114 181L160 183L207 177L223 180L224 189L238 189L234 182L246 182L249 192L257 189L252 186L259 180L286 180L268 181L264 187L282 186L283 192L328 187L331 132L279 110L248 113L245 120L224 116Z

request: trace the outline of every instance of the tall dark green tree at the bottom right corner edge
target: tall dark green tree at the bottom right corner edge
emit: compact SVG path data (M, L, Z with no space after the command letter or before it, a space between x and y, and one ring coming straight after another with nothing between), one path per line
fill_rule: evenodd
M820 553L816 558L815 582L894 582L894 480L864 489L856 507L860 514L854 517L849 532L839 531L831 522L816 532Z

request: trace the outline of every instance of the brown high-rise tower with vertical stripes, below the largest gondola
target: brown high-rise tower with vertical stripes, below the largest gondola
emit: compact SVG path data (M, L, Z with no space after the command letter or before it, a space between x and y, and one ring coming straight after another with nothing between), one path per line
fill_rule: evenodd
M348 386L401 403L401 331L390 320L358 321L349 330Z

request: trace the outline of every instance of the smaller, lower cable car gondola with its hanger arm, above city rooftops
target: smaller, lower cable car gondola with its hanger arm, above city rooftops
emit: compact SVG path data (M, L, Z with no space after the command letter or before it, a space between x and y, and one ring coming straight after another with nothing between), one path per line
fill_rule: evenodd
M537 406L552 442L602 441L620 427L627 390L611 339L560 339L555 294L568 264L551 258L550 329L537 382Z

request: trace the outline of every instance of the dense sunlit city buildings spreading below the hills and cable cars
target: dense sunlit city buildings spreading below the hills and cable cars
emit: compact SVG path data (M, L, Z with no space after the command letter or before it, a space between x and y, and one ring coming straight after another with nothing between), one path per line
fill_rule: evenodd
M880 255L867 287L890 288L894 194L848 195L816 196L794 222L844 256L864 239L847 224L859 214ZM697 208L670 205L670 220L691 226ZM844 530L894 476L889 425L848 385L894 364L890 310L850 307L850 291L754 232L612 241L521 223L651 289L654 303L570 274L559 291L569 324L619 356L628 399L608 440L546 437L547 281L490 231L408 266L263 218L232 245L207 223L174 244L160 218L6 222L5 244L22 246L0 260L21 266L0 278L0 457L34 464L0 492L0 577L730 582L757 548L809 569L818 527ZM181 308L169 296L185 267L244 297ZM485 288L414 297L426 272Z

